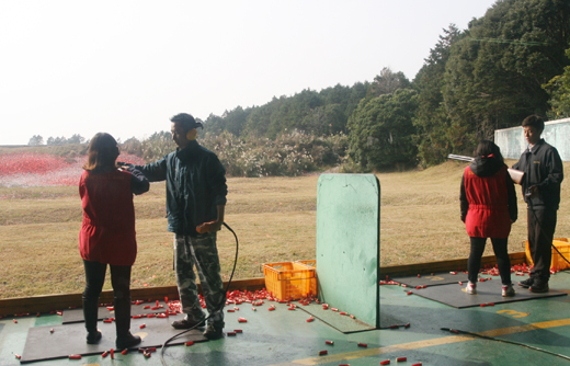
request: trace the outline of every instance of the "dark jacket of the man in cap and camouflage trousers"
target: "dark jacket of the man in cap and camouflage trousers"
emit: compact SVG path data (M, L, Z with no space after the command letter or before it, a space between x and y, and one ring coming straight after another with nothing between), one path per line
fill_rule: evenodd
M226 205L226 170L216 155L191 141L163 159L135 165L150 182L167 181L168 230L195 237L196 226L217 219Z

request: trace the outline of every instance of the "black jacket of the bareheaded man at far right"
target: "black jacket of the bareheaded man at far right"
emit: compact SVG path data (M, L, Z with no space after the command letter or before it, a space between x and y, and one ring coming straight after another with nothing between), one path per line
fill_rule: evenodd
M532 149L527 148L513 169L524 172L523 195L528 187L538 186L538 194L532 199L534 209L558 209L560 204L560 183L565 179L563 165L558 150L540 139ZM524 197L527 204L528 198ZM531 205L528 206L531 207Z

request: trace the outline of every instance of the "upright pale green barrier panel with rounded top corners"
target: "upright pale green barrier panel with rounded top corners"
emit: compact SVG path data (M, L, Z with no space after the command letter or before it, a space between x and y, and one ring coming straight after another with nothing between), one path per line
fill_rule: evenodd
M380 184L322 174L317 191L319 299L379 328Z

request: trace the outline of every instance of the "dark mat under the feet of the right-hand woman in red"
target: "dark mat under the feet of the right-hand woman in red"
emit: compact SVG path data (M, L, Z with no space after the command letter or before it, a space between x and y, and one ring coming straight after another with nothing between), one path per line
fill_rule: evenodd
M513 283L515 283L513 281ZM494 278L486 282L477 283L477 294L469 295L465 291L465 286L459 284L449 284L442 286L428 286L421 289L406 289L414 295L442 302L445 305L453 306L454 308L469 308L475 306L490 306L492 304L503 304L512 301L524 301L545 297L554 296L566 296L566 293L550 289L548 293L535 294L531 293L527 288L523 288L518 285L514 285L516 290L513 297L502 297L501 295L501 279Z

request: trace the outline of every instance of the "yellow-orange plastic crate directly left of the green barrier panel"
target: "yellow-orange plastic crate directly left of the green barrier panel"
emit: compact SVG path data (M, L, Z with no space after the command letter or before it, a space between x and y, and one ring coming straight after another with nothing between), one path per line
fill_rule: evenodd
M303 263L281 262L263 264L265 288L280 300L298 300L310 295L316 270Z

